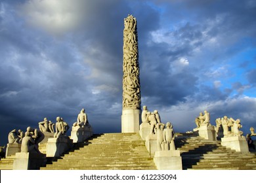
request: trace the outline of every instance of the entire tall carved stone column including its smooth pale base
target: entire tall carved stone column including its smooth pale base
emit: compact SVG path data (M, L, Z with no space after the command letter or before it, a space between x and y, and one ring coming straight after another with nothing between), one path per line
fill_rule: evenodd
M123 29L123 112L122 133L139 132L140 78L137 20L128 15Z

